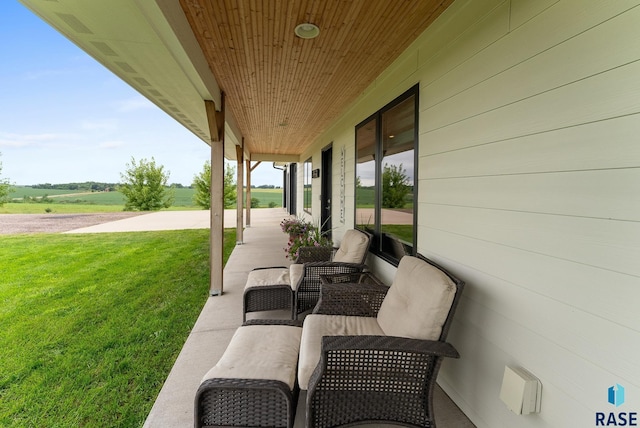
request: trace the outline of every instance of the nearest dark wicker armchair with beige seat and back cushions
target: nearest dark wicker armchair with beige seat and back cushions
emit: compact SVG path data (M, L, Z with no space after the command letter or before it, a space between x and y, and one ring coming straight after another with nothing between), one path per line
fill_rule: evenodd
M435 263L410 256L400 261L391 287L323 285L322 300L303 325L298 361L300 388L308 389L306 426L435 427L440 364L459 357L445 339L463 288ZM360 296L355 305L354 294ZM350 316L353 307L358 315L368 308L370 316Z

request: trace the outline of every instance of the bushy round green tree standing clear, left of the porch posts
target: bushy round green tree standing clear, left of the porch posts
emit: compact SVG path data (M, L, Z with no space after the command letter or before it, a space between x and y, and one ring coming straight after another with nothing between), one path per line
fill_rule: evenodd
M120 174L123 183L118 190L127 199L126 211L157 211L169 208L173 204L173 189L167 187L169 171L165 173L164 166L151 161L140 159L139 163L132 157L127 164L127 170Z

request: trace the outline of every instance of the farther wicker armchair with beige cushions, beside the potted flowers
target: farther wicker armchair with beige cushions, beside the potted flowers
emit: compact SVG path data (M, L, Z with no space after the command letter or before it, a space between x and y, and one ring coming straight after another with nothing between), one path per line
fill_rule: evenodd
M313 309L320 297L321 275L352 274L362 272L369 247L371 235L358 229L345 232L340 247L329 261L319 261L314 257L318 251L315 247L305 247L300 257L289 267L291 284L294 291L295 317Z

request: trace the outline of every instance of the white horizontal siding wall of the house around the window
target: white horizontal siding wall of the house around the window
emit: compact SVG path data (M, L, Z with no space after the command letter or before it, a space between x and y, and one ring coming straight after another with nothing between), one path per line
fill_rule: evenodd
M478 427L595 426L615 383L640 412L638 1L456 1L310 151L347 148L338 240L354 126L416 82L419 251L468 284L443 388ZM500 402L506 364L539 415Z

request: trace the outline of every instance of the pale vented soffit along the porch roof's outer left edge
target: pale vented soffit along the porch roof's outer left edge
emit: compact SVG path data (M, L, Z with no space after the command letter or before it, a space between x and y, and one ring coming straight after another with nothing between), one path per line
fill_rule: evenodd
M219 108L220 90L177 1L20 1L210 143L204 100ZM233 125L225 126L227 135L237 132L233 118L227 119ZM231 153L235 157L235 149Z

